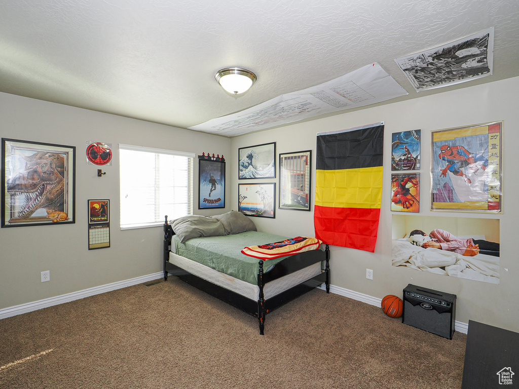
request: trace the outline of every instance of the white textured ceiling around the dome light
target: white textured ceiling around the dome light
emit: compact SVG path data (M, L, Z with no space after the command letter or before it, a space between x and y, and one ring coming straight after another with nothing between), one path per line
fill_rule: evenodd
M495 27L494 74L395 58ZM187 128L379 63L519 76L518 0L3 0L0 91ZM232 96L222 67L257 74ZM380 103L383 104L383 103Z

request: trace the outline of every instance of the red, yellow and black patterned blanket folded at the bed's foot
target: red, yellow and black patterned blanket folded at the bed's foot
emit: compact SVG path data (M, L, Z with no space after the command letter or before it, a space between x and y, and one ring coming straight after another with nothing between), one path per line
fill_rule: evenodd
M241 252L250 257L266 261L268 259L299 254L305 251L317 250L321 243L322 242L316 238L295 237L279 242L262 244L260 246L244 247Z

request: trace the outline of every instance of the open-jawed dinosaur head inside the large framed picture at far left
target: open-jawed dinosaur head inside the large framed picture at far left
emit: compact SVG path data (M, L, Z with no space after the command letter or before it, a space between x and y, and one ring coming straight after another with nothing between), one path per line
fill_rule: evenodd
M66 220L63 155L38 151L23 159L26 161L25 170L6 183L9 195L20 198L18 217L28 219L37 210L45 209L53 222Z

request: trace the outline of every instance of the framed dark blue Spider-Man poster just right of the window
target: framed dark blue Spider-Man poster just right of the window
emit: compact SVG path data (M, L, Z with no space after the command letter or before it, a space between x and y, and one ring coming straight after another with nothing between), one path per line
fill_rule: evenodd
M198 209L225 208L225 158L198 156Z

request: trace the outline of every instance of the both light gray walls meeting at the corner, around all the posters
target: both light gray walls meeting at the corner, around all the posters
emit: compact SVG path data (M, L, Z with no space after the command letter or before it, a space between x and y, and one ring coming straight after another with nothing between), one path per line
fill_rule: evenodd
M515 199L519 180L512 159L519 147L519 110L516 108L519 77L480 86L426 96L412 101L347 112L328 118L284 126L274 130L228 138L176 129L159 124L92 112L85 109L26 99L0 93L0 135L37 142L77 147L76 224L47 227L2 228L0 230L0 309L89 287L122 281L161 270L161 228L120 231L119 173L117 144L133 144L172 150L224 153L227 160L227 199L225 210L195 213L217 214L237 209L238 148L276 142L277 154L313 150L316 134L385 121L384 188L375 253L332 247L332 284L377 298L401 295L408 283L455 293L456 319L469 319L519 331L517 278L519 261L513 244L519 206ZM430 131L469 124L503 120L503 213L465 217L500 219L501 279L499 285L422 273L391 266L390 152L391 133L422 130L421 196L430 190ZM87 141L112 143L113 164L97 177L97 167L87 165ZM313 158L312 192L315 188ZM197 168L195 168L196 171ZM278 174L277 174L278 175ZM195 174L196 176L196 174ZM268 179L265 182L271 182ZM274 179L279 184L279 177ZM247 182L247 181L245 181ZM254 181L254 182L259 182ZM195 197L197 196L195 186ZM87 199L111 199L112 247L88 251ZM313 201L312 201L313 204ZM313 211L313 206L312 206ZM422 200L420 215L438 216ZM441 213L441 216L460 216ZM276 210L276 219L254 218L258 229L281 235L312 235L313 212ZM366 280L365 269L374 270ZM50 270L51 281L40 282L40 272Z

